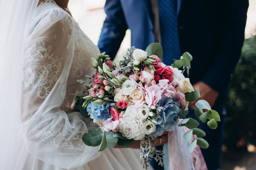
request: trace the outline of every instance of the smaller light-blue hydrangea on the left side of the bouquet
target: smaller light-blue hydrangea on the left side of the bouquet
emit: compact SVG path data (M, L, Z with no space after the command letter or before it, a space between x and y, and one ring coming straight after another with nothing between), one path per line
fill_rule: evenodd
M102 105L93 105L92 102L89 103L86 110L88 114L91 113L93 116L93 119L99 120L99 121L105 121L105 120L111 120L113 116L110 115L109 109L114 104L109 104L107 102L102 103Z

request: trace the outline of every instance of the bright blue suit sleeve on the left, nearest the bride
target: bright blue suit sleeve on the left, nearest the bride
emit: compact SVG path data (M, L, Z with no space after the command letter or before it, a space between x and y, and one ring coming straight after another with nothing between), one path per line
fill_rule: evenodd
M105 13L107 16L99 36L98 47L101 52L106 52L114 59L128 26L119 0L106 0Z

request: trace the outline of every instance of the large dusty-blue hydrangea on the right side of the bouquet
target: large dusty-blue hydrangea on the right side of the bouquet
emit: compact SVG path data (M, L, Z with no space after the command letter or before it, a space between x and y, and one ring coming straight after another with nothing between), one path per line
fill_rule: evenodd
M157 111L160 113L160 117L156 119L156 131L152 133L152 136L159 136L164 131L175 129L179 121L178 115L181 112L180 102L177 98L162 96L161 100L158 102Z

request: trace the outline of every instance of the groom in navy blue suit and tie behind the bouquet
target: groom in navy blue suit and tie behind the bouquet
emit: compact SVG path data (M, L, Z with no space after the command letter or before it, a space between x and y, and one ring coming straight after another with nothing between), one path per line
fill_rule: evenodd
M248 0L106 0L105 4L100 51L116 56L130 29L131 45L136 48L145 50L159 42L166 65L183 52L192 54L191 83L221 115L216 130L205 124L199 127L209 142L209 148L202 149L209 170L220 169L224 104L230 74L241 54L247 8ZM193 115L188 116L197 119Z

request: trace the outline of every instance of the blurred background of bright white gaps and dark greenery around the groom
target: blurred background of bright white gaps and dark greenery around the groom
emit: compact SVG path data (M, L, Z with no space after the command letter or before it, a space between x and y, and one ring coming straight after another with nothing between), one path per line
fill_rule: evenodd
M231 77L221 170L256 170L256 0L249 0L241 59ZM105 19L105 0L70 0L81 29L97 44ZM128 30L116 56L131 45Z

